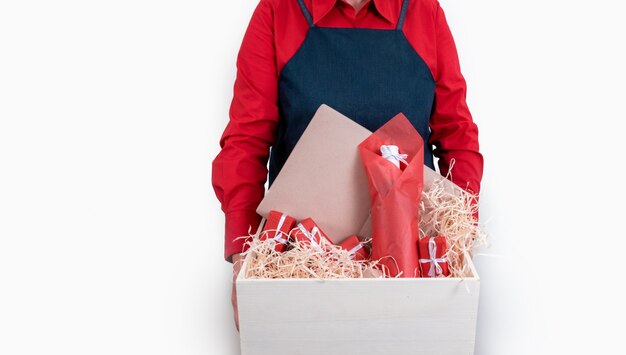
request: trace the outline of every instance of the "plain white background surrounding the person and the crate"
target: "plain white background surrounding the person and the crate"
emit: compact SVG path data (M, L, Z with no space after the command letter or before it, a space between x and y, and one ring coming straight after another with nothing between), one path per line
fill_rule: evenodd
M441 2L497 255L477 355L623 354L623 5ZM1 354L238 354L210 162L256 4L1 2Z

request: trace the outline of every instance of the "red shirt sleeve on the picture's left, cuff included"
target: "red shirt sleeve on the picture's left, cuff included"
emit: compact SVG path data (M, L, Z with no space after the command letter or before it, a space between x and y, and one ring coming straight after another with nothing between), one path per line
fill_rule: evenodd
M273 11L260 0L237 55L237 76L230 120L213 160L212 184L225 213L224 258L244 250L244 238L254 233L261 217L270 146L278 123L278 76L274 50Z

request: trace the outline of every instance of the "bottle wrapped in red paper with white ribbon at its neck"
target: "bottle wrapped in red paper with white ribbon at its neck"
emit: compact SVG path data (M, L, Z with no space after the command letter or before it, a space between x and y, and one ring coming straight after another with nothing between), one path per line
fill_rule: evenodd
M381 153L381 147L399 147ZM424 184L424 141L399 113L359 144L368 178L372 215L372 260L388 276L420 277L417 240L419 202ZM400 164L392 163L395 158Z

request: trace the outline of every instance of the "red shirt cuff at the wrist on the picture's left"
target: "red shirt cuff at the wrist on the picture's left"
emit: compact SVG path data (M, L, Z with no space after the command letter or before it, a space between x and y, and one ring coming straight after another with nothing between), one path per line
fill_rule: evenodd
M232 263L232 256L248 249L246 241L254 234L261 223L261 216L254 210L226 213L224 228L224 259ZM241 238L244 237L244 238Z

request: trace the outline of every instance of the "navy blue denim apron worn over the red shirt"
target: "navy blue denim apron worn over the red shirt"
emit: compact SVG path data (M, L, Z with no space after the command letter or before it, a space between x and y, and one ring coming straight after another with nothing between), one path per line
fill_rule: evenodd
M434 169L428 144L435 80L402 32L409 0L395 29L318 27L309 23L304 42L278 77L279 124L270 151L271 185L315 111L327 104L370 131L402 112L424 139L424 164Z

